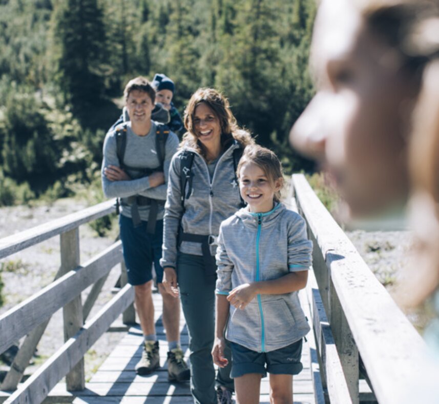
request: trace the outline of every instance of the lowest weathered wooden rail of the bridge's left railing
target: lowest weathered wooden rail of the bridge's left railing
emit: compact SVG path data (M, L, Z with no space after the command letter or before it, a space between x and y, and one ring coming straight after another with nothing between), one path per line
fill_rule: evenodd
M105 332L112 322L134 299L134 290L130 285L121 289L82 329L70 338L52 355L19 390L14 392L8 403L39 403L48 395L56 383L64 377L94 342Z

